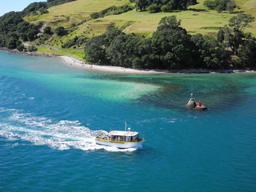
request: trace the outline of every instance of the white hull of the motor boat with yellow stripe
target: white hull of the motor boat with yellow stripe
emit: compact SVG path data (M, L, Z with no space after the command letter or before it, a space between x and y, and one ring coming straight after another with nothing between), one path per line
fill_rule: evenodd
M142 142L117 142L117 141L109 141L109 140L103 140L103 139L95 139L96 143L98 145L103 146L114 146L119 149L127 149L127 148L141 148Z

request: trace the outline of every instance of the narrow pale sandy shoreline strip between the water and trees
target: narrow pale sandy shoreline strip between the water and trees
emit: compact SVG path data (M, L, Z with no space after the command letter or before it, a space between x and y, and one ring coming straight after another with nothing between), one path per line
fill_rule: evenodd
M114 74L239 74L239 73L256 73L256 70L134 70L121 66L100 66L86 63L78 58L62 54L38 54L35 52L22 52L18 50L9 50L0 47L0 50L13 54L25 54L33 57L43 58L60 58L60 60L68 65L80 68L82 70L102 71Z

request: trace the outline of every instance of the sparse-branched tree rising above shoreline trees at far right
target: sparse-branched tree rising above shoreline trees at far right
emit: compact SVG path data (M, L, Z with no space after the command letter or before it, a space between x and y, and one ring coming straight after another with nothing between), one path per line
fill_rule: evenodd
M254 22L254 17L251 14L238 14L230 18L229 24L225 26L225 38L229 43L234 54L238 54L238 48L244 41L245 34L243 30L246 26L250 26L250 22Z

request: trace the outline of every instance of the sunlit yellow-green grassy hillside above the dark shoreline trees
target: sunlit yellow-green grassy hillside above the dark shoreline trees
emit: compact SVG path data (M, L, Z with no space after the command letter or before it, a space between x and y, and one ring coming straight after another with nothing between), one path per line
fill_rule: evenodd
M61 48L61 45L75 36L85 36L88 38L103 34L106 32L108 26L115 26L127 34L134 33L143 37L150 37L158 27L158 22L161 18L175 15L182 20L182 27L190 34L217 34L218 30L228 24L230 18L236 16L238 13L252 14L256 18L256 0L236 0L238 8L234 10L233 14L218 13L215 10L207 10L203 6L205 0L198 0L198 4L190 6L188 10L177 11L173 13L157 13L150 14L148 12L139 12L131 10L124 14L110 15L105 18L98 18L91 20L90 14L95 11L106 9L110 6L130 5L129 0L77 0L69 2L60 6L54 6L49 9L49 14L42 14L38 16L28 16L26 21L37 23L45 22L46 26L51 26L53 29L57 26L70 27L72 24L79 26L73 27L68 36L62 38L54 35L46 45ZM87 22L85 22L87 21ZM251 23L251 27L246 28L246 32L251 32L256 37L256 21ZM46 51L39 49L39 52ZM49 50L52 52L61 51L62 54L69 54L82 58L81 50Z

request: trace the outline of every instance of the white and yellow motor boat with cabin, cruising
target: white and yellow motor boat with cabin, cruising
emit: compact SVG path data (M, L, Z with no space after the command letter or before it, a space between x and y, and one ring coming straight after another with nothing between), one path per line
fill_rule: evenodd
M145 142L143 138L139 138L138 132L128 130L112 130L109 133L99 134L95 141L98 145L103 146L115 146L120 149L127 148L140 148L142 142Z

